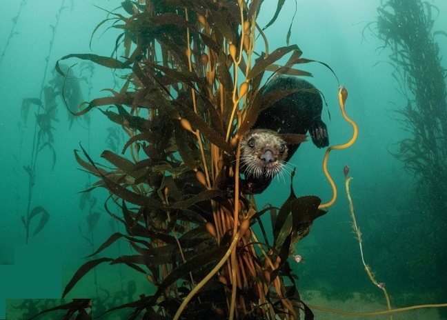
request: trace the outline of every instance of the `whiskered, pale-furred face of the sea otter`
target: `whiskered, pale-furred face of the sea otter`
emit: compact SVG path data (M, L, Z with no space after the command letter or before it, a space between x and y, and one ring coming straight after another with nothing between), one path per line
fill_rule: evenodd
M241 141L241 168L255 178L272 178L284 167L287 144L272 130L248 131Z

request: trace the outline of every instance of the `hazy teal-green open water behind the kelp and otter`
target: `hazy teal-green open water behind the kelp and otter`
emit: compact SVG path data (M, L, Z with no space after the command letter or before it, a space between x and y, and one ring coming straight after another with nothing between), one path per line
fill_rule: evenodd
M274 1L264 1L263 6L267 8L270 2ZM69 117L57 94L57 90L62 90L63 79L54 72L56 61L66 54L95 52L110 56L115 48L117 30L103 27L92 39L90 37L98 23L105 19L105 10L112 11L119 4L120 1L105 0L2 2L0 271L3 277L13 272L18 250L31 250L30 254L42 250L46 254L36 254L36 259L42 261L32 259L23 270L32 273L34 263L60 261L61 284L66 286L85 261L83 257L94 252L120 228L103 209L107 190L97 188L90 198L86 193L79 193L96 180L80 170L73 150L80 150L81 143L92 159L99 161L103 150L120 152L126 139L120 126L114 126L99 110L89 112L88 118ZM436 12L433 9L433 30L444 32L435 37L439 57L443 57L447 53L447 3L433 1L433 5L438 9ZM421 200L421 196L425 196L418 191L415 175L404 170L403 161L393 156L399 141L410 137L397 121L399 114L396 112L406 106L407 100L400 94L399 83L393 76L395 67L388 57L390 49L383 48L384 41L368 29L368 23L377 21L379 6L381 1L372 0L297 0L290 36L290 43L299 46L303 57L324 62L337 74L349 92L346 110L359 127L355 144L330 156L328 168L339 188L339 197L329 212L315 221L308 237L296 248L297 254L306 261L293 266L299 277L297 286L301 298L308 303L352 312L386 310L386 301L381 290L368 279L361 263L344 192L342 169L345 163L353 177L350 192L362 233L365 260L375 272L377 281L386 283L393 308L447 301L447 274L443 272L447 236L439 237L447 232L447 206L433 208L426 204L432 201L430 199L446 198L447 190L441 185L437 194L430 192L433 198ZM261 10L257 20L261 26L268 23L273 14L273 9L266 8ZM272 8L275 8L273 4ZM294 12L295 2L286 1L279 19L265 31L271 48L286 45L286 33ZM447 68L445 59L441 59L441 67ZM328 106L324 107L322 119L328 125L330 144L344 143L350 139L352 129L339 112L337 79L321 63L307 63L300 68L312 72L313 77L308 81L317 86L326 99ZM74 92L70 96L74 105L101 97L104 88L119 88L117 83L122 85L121 79L110 70L92 63L79 63L72 72L78 80L66 86ZM21 217L26 214L30 199L27 168L34 161L32 150L39 148L33 144L34 112L37 111L34 102L44 98L41 90L48 83L57 88L52 96L57 104L56 121L52 121L52 128L46 133L52 134L52 146L43 148L35 163L30 206L42 209L30 222L26 246L26 228L23 228ZM23 114L23 103L30 105L28 116ZM297 168L293 181L297 195L315 194L323 201L331 197L330 186L321 169L323 156L324 150L315 148L312 143L303 143L292 157L290 165ZM257 206L262 208L266 203L281 206L289 192L290 177L277 178L264 194L256 196ZM39 219L46 213L48 221L33 235L39 228ZM126 252L131 252L126 244L115 243L105 254ZM146 279L140 278L137 272L121 265L100 266L79 281L68 297L108 297L119 290L129 292L133 286L136 289L132 292L144 292L149 286ZM17 283L23 286L23 279L17 279ZM17 287L1 283L0 287L2 299L39 298L34 293L28 295L26 288L17 291ZM10 319L21 319L19 315L24 311L10 306L19 306L21 302L8 301L6 308L17 317ZM3 301L0 306L1 303ZM0 319L4 317L1 311L2 308ZM316 319L360 319L315 314ZM394 317L447 319L447 312L422 310ZM367 319L387 318L383 315Z

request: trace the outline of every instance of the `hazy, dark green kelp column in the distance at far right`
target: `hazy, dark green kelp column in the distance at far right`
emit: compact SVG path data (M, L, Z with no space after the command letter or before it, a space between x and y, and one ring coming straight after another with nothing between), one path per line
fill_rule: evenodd
M413 217L415 237L426 237L435 243L439 255L417 258L408 263L416 272L420 263L429 259L433 274L444 270L446 256L447 199L447 91L446 69L436 39L447 37L444 30L433 30L439 9L428 1L383 1L377 9L374 32L383 41L393 65L393 77L406 105L398 106L393 116L408 135L396 141L390 150L404 169L415 178L418 208ZM411 247L411 248L410 248ZM403 246L404 252L424 255L424 243ZM424 261L424 262L422 262ZM433 277L427 288L446 279ZM435 285L436 286L436 285Z

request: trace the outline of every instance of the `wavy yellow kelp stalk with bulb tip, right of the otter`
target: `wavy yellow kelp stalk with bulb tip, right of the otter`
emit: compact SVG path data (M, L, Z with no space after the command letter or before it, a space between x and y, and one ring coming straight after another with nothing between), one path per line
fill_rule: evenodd
M326 175L326 178L328 179L330 186L332 187L332 199L328 202L328 203L322 203L321 205L319 205L319 209L321 208L329 208L330 206L332 206L332 204L335 203L335 200L337 199L337 187L335 186L334 181L332 180L332 177L330 177L330 174L328 172L328 157L329 157L329 153L331 150L340 150L340 149L346 149L349 148L350 146L352 146L352 143L355 142L355 140L357 140L357 135L359 133L359 130L357 128L357 124L352 121L347 115L346 115L346 111L345 111L345 103L346 103L346 98L348 98L348 91L346 90L345 87L340 87L339 88L339 105L340 105L340 109L341 109L341 114L343 114L343 117L346 121L348 121L352 128L354 129L354 132L352 132L352 138L350 139L350 141L348 141L347 143L341 144L339 146L330 146L327 150L326 153L324 154L324 159L323 159L323 170L324 170L324 174Z

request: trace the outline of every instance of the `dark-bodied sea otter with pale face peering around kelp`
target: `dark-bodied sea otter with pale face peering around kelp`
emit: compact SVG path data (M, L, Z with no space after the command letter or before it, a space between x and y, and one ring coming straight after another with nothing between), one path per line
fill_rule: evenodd
M323 101L318 90L303 79L281 76L264 87L263 97L274 90L295 90L262 110L241 140L240 189L244 194L261 193L299 148L281 134L306 134L318 148L329 145L328 130L321 120Z

